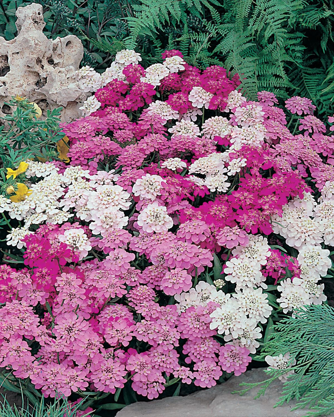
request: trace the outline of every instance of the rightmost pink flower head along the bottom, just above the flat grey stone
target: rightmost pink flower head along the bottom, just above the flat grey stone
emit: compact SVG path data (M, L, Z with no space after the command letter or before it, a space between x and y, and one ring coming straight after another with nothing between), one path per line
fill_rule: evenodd
M219 364L222 369L229 374L234 372L238 377L246 371L247 365L252 358L249 350L245 347L234 346L233 344L225 344L219 349Z

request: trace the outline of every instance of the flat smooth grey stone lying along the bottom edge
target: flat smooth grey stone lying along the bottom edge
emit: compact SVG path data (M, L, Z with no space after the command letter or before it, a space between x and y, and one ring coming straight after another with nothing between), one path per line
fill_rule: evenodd
M243 389L241 382L261 382L268 379L262 369L252 369L240 377L231 377L227 382L210 389L195 392L186 397L169 397L150 402L136 402L124 407L116 417L301 417L307 409L291 410L296 401L273 408L282 393L282 383L276 380L264 396L254 399L258 389L245 395L231 394ZM334 414L329 414L334 417Z

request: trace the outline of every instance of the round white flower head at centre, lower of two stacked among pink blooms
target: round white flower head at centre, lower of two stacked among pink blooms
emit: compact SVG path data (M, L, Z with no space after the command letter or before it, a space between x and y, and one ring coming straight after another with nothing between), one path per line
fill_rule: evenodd
M159 206L157 201L154 201L141 211L137 224L147 233L159 233L167 231L174 223L173 219L167 214L167 208Z

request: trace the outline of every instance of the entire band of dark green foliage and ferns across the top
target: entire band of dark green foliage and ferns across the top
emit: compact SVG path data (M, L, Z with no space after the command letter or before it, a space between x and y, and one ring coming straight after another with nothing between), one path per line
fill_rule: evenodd
M238 72L248 98L270 90L285 100L311 98L321 117L334 113L334 0L37 0L52 38L75 34L82 65L104 70L117 51L142 64L180 49L187 62ZM0 35L15 36L21 0L0 0Z

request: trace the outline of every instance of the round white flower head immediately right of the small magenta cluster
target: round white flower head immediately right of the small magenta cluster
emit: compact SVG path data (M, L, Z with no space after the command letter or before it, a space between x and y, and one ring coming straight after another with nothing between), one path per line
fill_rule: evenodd
M311 272L319 272L321 276L325 276L331 267L331 259L328 256L328 249L322 249L319 245L304 245L299 249L297 260L301 266L308 266Z

